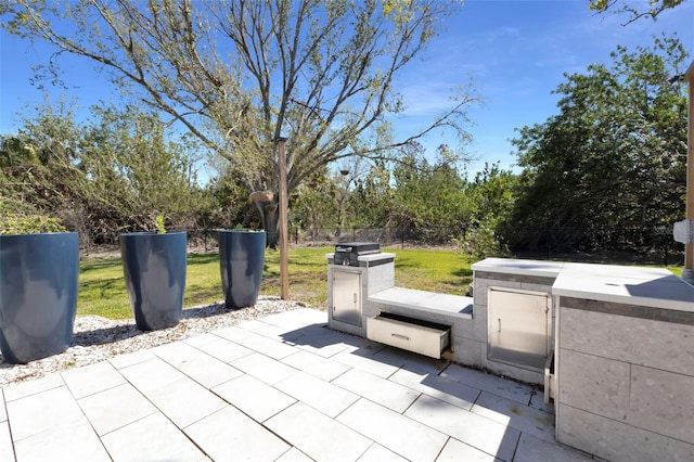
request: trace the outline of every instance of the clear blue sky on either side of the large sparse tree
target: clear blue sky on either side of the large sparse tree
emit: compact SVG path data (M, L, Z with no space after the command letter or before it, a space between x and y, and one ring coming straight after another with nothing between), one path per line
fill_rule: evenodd
M551 92L565 81L565 73L609 63L617 44L648 46L663 31L676 31L694 59L694 0L663 13L655 23L641 20L621 26L626 18L596 16L587 0L467 0L447 18L446 29L429 44L425 57L413 62L396 81L407 108L393 125L403 134L425 127L450 105L450 90L472 78L485 102L470 112L473 142L466 150L476 161L468 170L480 169L485 162L511 168L515 157L509 140L516 136L514 129L556 114L557 95ZM21 126L17 113L43 101L43 92L29 80L31 66L49 60L51 51L9 37L4 30L0 40L0 133L12 133ZM62 56L61 63L70 88L51 90L53 101L65 93L86 111L101 99L117 99L91 63L68 56ZM423 142L429 151L441 143L455 146L445 133L432 133Z

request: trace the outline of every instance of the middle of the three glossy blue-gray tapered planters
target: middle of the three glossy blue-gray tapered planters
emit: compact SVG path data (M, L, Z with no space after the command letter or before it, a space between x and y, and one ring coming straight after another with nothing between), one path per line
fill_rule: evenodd
M138 329L177 325L185 290L185 232L120 234L120 258Z

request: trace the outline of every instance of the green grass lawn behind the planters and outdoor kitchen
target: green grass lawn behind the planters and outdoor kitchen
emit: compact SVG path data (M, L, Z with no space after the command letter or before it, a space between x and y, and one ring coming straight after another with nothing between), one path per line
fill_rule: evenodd
M297 247L290 251L290 298L325 309L327 260L334 247ZM453 249L401 249L393 252L395 283L398 286L463 295L473 279L473 257ZM677 275L681 267L668 267ZM268 249L260 293L280 295L280 253ZM184 307L223 299L219 256L190 254ZM120 257L85 257L80 262L77 315L99 315L111 319L132 317Z

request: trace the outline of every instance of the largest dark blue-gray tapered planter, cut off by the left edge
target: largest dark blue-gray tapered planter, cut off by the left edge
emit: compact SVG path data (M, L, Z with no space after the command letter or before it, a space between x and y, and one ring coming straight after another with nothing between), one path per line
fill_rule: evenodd
M26 363L65 351L77 310L75 232L0 235L0 349Z

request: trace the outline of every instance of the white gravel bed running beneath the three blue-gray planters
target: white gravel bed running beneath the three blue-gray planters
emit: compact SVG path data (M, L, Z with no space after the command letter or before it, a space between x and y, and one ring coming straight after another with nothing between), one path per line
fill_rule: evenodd
M305 306L300 301L260 296L254 307L237 310L226 309L223 303L185 308L178 325L151 332L139 331L134 319L114 321L99 316L78 316L73 343L64 352L27 364L4 362L0 355L0 387Z

